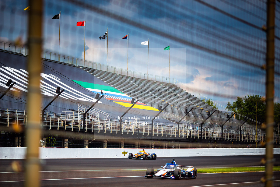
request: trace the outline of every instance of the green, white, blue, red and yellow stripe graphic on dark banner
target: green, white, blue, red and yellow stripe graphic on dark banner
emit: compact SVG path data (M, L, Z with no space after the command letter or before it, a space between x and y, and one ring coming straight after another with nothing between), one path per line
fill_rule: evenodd
M121 91L117 90L116 88L112 86L105 86L100 84L94 84L94 83L87 83L82 82L78 80L72 80L75 83L83 86L84 88L94 92L101 94L101 90L104 94L104 97L110 101L114 101L117 104L120 104L124 107L130 107L132 104L131 99L132 97L129 97L128 95L122 93ZM144 109L144 110L152 110L152 111L158 111L156 108L147 106L145 103L137 102L132 108L138 108L138 109Z

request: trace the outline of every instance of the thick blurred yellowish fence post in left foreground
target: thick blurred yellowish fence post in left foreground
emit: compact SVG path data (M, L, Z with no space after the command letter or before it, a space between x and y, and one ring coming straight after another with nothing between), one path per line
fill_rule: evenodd
M42 72L42 30L43 30L43 1L30 0L28 11L27 43L29 55L27 58L28 93L27 93L27 125L26 125L26 165L25 186L40 186L39 147L41 139L41 90L40 73Z

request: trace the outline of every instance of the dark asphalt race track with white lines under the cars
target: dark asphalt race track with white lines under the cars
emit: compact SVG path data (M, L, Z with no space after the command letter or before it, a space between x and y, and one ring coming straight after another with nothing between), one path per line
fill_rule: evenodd
M174 157L178 165L195 168L262 166L264 155L220 157ZM274 155L280 165L280 155ZM127 158L42 159L41 186L264 186L264 172L199 174L197 179L145 178L145 169L170 163L173 157L156 160ZM0 159L0 186L24 186L24 172L13 172L11 163L23 168L24 160ZM20 168L20 167L19 167ZM142 171L144 170L144 171ZM274 172L274 186L280 186L280 172Z

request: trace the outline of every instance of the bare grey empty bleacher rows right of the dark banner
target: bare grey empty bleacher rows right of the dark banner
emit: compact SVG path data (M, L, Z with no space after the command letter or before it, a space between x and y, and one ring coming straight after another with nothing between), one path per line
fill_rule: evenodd
M98 77L114 88L126 93L131 97L139 99L139 101L149 106L158 108L160 105L164 106L169 103L170 105L165 109L167 113L174 113L177 116L184 116L184 111L186 108L190 110L192 107L194 107L191 113L186 116L186 119L199 124L199 128L201 122L207 118L208 111L212 113L215 110L215 108L172 83L140 79L113 72L86 68L83 66L79 67ZM217 130L226 121L226 116L226 113L217 110L209 119L204 122L203 125L205 125L205 127L208 129L210 128ZM173 120L176 122L179 121L179 118L174 118ZM236 136L239 136L240 126L242 124L243 121L236 118L231 118L228 122L226 122L223 130L225 133L233 133L236 134ZM242 125L242 129L252 130L255 129L255 127L246 123L245 125ZM203 129L203 131L205 131L205 129ZM243 133L245 133L244 130L241 132L241 134ZM263 131L260 132L260 136L261 135L264 135Z

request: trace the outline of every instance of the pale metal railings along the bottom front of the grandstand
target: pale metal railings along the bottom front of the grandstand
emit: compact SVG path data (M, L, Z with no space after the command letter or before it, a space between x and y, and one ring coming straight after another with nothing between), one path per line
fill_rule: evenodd
M6 109L0 111L0 124L2 126L9 125L21 125L26 127L27 114L25 111ZM61 114L54 113L45 113L44 115L44 126L48 127L47 129L64 129L73 131L73 129L78 129L81 131L82 127L82 116L79 115L79 112L65 111ZM89 125L90 124L90 125ZM123 129L120 129L120 122L117 119L108 120L107 117L103 116L98 117L98 121L95 121L89 116L86 118L86 129L91 130L96 129L96 133L106 133L110 134L132 134L136 136L162 136L162 137L178 137L180 138L197 138L197 139L223 139L230 141L246 141L246 142L261 142L265 141L265 133L255 129L248 128L246 126L241 127L241 132L234 129L224 129L224 132L221 132L220 127L204 127L203 129L199 128L199 125L193 126L189 123L180 123L179 124L179 134L178 126L175 123L154 123L153 129L151 122L144 122L140 120L128 120ZM20 128L19 128L20 129ZM273 136L274 143L279 144L279 132L274 129Z

